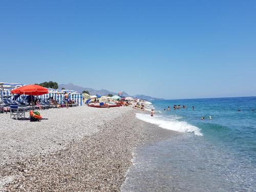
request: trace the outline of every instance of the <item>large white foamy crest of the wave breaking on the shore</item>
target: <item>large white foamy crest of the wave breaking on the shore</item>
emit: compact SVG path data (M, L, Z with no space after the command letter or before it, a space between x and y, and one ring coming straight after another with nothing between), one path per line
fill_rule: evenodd
M151 117L149 114L136 113L136 117L142 121L146 121L152 124L156 124L164 129L178 131L178 132L191 132L195 135L202 136L200 129L185 121L177 121L175 116L173 118L166 118L159 115Z

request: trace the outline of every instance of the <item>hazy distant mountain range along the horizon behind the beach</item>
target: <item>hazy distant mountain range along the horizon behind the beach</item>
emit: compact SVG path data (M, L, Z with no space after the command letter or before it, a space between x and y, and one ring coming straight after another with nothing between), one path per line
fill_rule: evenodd
M111 92L111 91L108 91L108 90L105 90L105 89L102 89L102 90L95 90L95 89L92 89L92 88L83 88L83 87L80 87L80 86L76 86L74 85L73 83L68 83L68 84L59 84L59 89L61 88L65 88L65 89L68 89L68 90L74 90L74 91L77 91L79 93L82 93L82 91L89 91L91 95L96 95L96 94L99 94L99 95L108 95L108 94L113 94L113 95L117 95L118 93L115 93L115 92ZM129 95L128 93L126 92L122 92L123 96L124 97L133 97L133 98L139 98L139 99L144 99L144 100L162 100L162 99L159 99L159 98L154 98L154 97L151 97L151 96L147 96L147 95Z

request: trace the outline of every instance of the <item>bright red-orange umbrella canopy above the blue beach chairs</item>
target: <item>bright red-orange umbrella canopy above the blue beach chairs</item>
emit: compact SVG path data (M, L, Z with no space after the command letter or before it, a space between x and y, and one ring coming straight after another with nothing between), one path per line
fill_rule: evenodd
M24 95L44 95L48 94L48 89L38 86L37 84L30 84L28 86L23 86L11 91L12 94L24 94Z

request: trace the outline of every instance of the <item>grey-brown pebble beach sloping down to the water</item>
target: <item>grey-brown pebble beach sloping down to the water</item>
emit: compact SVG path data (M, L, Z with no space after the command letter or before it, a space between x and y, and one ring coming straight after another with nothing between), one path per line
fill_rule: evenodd
M3 160L4 157L1 157L1 190L120 191L127 170L132 165L133 150L136 147L168 139L176 134L174 131L165 130L157 125L137 119L135 113L139 112L130 107L92 109L88 106L82 106L61 110L67 113L70 111L72 113L81 112L78 119L70 118L67 121L69 123L66 123L66 119L64 124L56 125L61 130L61 136L66 135L65 139L63 140L59 136L56 141L56 138L49 134L50 132L47 134L39 133L36 135L38 138L30 141L29 145L33 145L33 142L53 139L45 145L50 146L48 151L39 150L41 146L37 143L38 146L33 148L34 151L26 151L25 148L24 154L19 158L13 155L17 153L17 150L11 150L8 153L13 155L12 158ZM58 111L57 109L57 113L53 113L53 115L48 116L48 119L39 122L40 125L45 121L62 122L62 117L58 115ZM42 114L44 112L51 114L51 110L42 111ZM60 119L52 119L54 116ZM87 118L90 120L86 120ZM17 123L19 121L10 119L10 122ZM33 122L22 123L31 124ZM80 126L81 123L84 124ZM45 131L53 129L50 124L51 122ZM8 132L2 126L1 130ZM75 126L78 126L78 129ZM16 133L16 136L20 132L31 132L29 129L23 131L17 131L17 129L17 127L11 129L11 132ZM58 129L54 129L57 130L56 135L59 135ZM55 133L52 132L52 134ZM0 135L1 139L4 135ZM15 134L12 134L12 137L13 135ZM12 139L16 140L17 138ZM62 140L62 143L59 144L59 140ZM25 145L28 142L24 141L22 144L24 146L21 147L24 148L27 147ZM2 150L3 147L5 144L1 142L0 149Z

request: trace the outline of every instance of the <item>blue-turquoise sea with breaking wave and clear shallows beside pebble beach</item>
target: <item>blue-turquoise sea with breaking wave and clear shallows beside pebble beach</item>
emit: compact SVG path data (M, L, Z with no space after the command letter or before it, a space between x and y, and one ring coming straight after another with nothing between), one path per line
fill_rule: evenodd
M256 97L145 104L137 118L178 134L137 148L121 191L256 191Z

